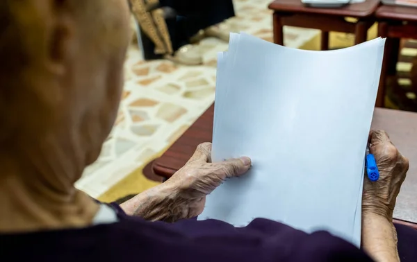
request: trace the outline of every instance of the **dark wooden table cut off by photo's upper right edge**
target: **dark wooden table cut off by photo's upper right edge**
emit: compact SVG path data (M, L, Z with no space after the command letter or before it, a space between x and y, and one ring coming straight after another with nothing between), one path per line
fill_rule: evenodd
M377 104L384 105L386 79L395 76L401 38L417 39L417 8L403 6L381 6L375 12L378 35L386 37L384 62L382 63L381 80Z

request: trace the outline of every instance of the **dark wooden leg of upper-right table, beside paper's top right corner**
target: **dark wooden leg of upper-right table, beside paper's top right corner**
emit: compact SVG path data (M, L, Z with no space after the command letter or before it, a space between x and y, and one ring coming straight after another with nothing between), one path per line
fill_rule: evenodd
M387 37L388 36L388 24L384 21L380 21L378 24L378 36L379 37ZM377 93L377 101L375 103L375 107L384 107L385 105L385 89L386 89L386 71L387 71L387 64L389 60L389 53L390 53L390 46L389 40L387 39L385 42L385 49L384 49L384 59L382 60L382 69L381 69L381 76L379 78L379 87Z

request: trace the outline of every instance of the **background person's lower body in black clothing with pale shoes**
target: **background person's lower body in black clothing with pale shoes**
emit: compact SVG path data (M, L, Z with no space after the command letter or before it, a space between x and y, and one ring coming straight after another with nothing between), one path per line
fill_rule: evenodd
M145 60L165 58L179 64L203 64L204 51L193 43L204 37L229 42L229 26L218 23L234 16L232 0L213 0L204 10L193 0L129 3L140 27L140 38L133 35L132 41L139 40ZM197 37L190 37L195 32Z

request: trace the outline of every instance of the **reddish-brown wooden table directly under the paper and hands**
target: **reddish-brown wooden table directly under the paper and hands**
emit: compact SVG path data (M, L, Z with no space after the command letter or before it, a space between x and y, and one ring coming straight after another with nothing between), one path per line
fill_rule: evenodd
M199 143L211 141L213 109L211 105L162 157L154 161L156 175L171 177L186 164ZM398 196L394 215L399 220L417 223L417 114L375 108L372 128L386 130L395 146L410 160L409 173Z

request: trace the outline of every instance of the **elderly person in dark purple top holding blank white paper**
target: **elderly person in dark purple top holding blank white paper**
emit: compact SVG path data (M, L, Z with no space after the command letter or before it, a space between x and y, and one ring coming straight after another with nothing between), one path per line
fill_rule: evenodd
M0 1L0 261L370 261L325 232L188 219L251 166L248 157L212 163L210 143L120 206L76 190L115 121L130 37L126 0ZM382 169L364 184L363 246L395 261L392 209L408 161L385 132L370 142Z

